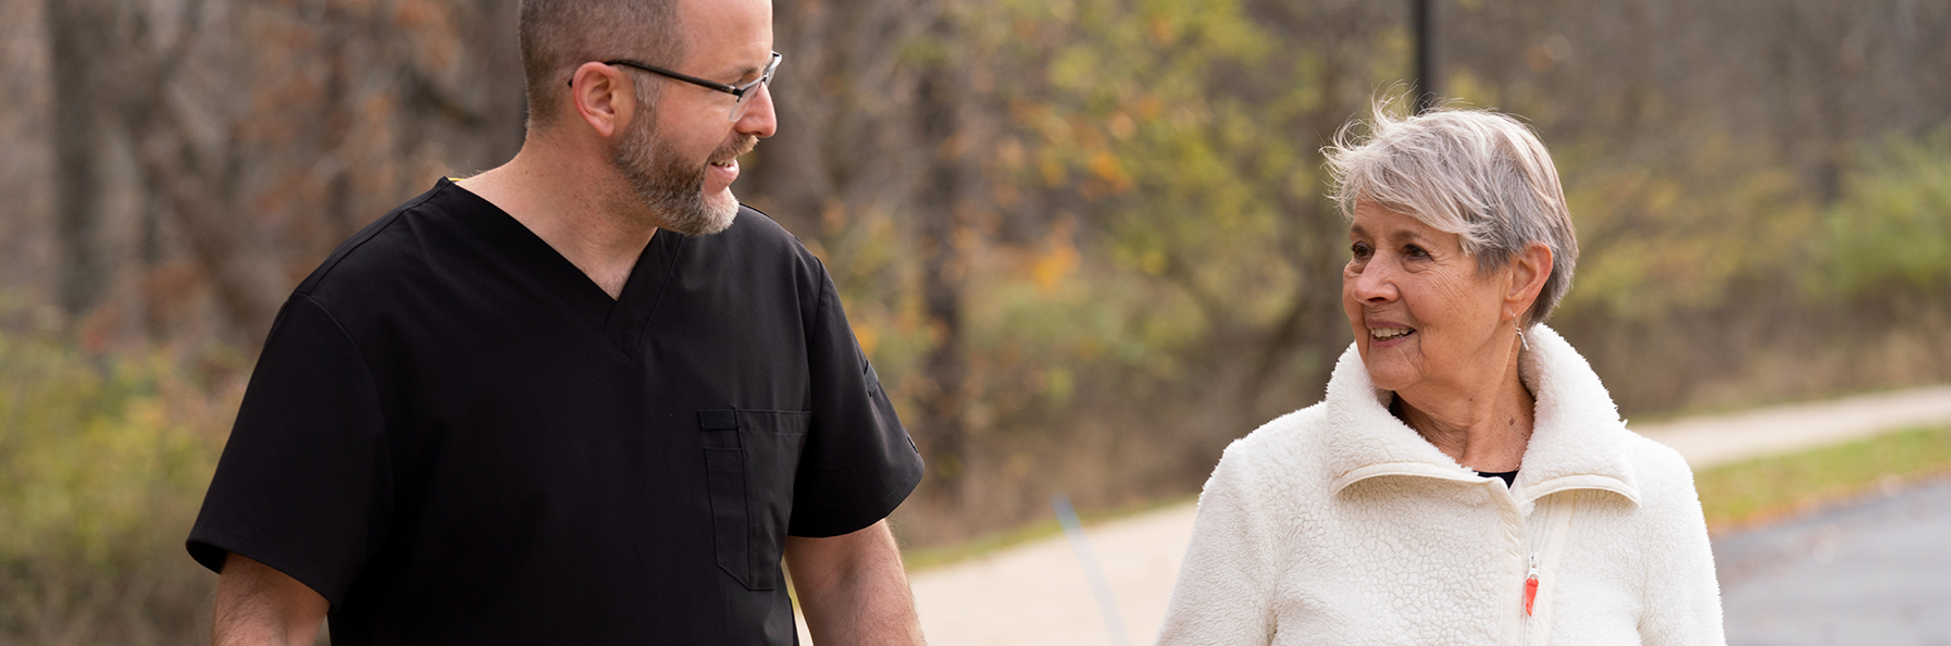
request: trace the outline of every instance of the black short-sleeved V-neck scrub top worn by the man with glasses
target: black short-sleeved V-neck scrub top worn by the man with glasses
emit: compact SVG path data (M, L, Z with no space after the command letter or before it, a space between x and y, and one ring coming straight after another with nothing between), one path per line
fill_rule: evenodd
M765 215L659 230L620 299L451 183L285 303L189 552L332 603L334 644L792 644L786 535L921 457L825 267Z

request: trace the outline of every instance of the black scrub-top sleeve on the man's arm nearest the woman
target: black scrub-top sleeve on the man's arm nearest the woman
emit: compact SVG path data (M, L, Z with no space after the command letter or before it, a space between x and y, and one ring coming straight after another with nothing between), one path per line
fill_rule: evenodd
M860 353L833 279L808 338L812 429L792 486L794 537L839 537L888 517L921 484L921 453Z

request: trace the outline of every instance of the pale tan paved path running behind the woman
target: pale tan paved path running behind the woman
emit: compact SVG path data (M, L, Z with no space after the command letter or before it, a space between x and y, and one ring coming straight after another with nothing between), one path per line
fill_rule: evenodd
M1945 422L1951 384L1631 427L1705 468ZM1192 515L1184 504L1087 527L1134 644L1157 636ZM915 603L935 646L1112 644L1083 572L1063 537L1054 537L915 572Z

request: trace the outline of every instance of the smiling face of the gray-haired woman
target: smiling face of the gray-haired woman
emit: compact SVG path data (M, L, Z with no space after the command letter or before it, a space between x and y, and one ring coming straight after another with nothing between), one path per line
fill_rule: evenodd
M1356 205L1348 242L1342 308L1377 388L1467 392L1504 371L1508 269L1479 273L1457 234L1372 201Z

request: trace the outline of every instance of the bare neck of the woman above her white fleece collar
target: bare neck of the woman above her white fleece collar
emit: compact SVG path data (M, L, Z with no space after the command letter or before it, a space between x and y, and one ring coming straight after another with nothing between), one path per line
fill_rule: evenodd
M1508 472L1524 463L1533 406L1532 390L1518 379L1518 353L1512 351L1504 375L1471 394L1418 400L1397 392L1389 412L1457 464Z

